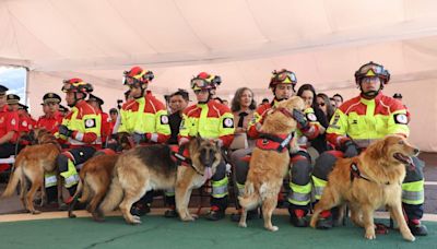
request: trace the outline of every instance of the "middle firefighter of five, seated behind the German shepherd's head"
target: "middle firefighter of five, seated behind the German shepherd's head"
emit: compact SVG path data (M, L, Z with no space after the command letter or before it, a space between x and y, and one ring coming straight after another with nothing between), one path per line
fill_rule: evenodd
M220 76L205 72L191 80L191 88L198 103L184 111L178 138L179 145L197 135L204 139L216 139L223 149L231 145L234 140L234 116L227 106L211 98L212 91L220 83ZM227 183L226 165L223 161L212 177L211 210L206 215L208 220L217 221L225 216Z

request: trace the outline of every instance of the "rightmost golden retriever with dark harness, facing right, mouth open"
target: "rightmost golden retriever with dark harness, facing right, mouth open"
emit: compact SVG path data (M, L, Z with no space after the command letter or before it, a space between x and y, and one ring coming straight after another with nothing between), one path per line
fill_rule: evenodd
M323 210L347 203L352 221L365 228L367 239L375 239L374 212L387 206L402 237L414 241L402 214L401 183L405 178L405 165L411 165L411 156L417 153L418 149L403 137L388 135L356 157L340 158L328 177L321 200L316 204L310 226L316 227Z

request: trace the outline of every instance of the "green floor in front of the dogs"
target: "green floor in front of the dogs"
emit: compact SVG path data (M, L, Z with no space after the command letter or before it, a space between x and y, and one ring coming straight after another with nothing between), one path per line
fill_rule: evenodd
M364 239L364 230L347 223L330 230L295 228L286 216L275 216L279 232L262 227L262 221L249 221L237 227L229 218L220 222L198 220L182 223L162 216L144 216L142 224L127 225L121 217L105 223L91 218L59 218L0 223L0 248L437 248L437 223L425 223L427 237L404 241L398 230ZM388 221L382 221L388 224Z

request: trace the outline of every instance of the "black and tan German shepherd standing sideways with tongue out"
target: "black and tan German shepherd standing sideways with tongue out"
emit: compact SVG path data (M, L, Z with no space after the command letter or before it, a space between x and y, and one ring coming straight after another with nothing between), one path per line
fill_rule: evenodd
M175 188L180 218L193 221L188 212L191 190L201 187L214 175L222 155L216 142L201 138L192 138L187 150L191 161L189 166L178 166L176 159L172 158L175 153L164 144L138 146L120 155L109 192L99 205L99 215L119 205L127 223L139 224L140 217L130 214L132 203L149 190Z

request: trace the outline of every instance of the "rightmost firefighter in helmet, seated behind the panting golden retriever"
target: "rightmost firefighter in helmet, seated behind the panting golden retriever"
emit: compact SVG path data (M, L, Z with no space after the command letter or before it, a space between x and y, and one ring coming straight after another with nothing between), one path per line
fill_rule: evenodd
M328 174L338 157L353 157L365 150L373 141L388 134L408 137L409 118L406 108L392 97L381 93L390 80L390 73L380 64L369 62L355 72L355 81L361 95L341 105L331 119L327 139L339 151L329 151L320 155L312 171L316 199L320 199ZM415 169L408 169L402 183L402 203L413 235L425 236L427 229L421 224L424 202L424 163L413 157ZM318 228L330 228L332 214L322 213Z

